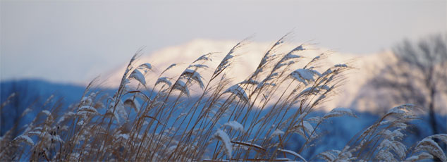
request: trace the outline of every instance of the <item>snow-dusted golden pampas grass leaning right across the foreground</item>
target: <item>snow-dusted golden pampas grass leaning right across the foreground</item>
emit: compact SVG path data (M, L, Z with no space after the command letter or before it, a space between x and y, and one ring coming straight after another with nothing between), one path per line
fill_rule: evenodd
M6 132L0 139L1 161L446 160L432 139L446 142L447 135L427 137L414 147L401 143L408 121L417 118L413 112L418 108L410 104L392 108L344 149L303 158L303 150L327 138L319 129L325 120L357 117L348 108L309 116L335 94L352 67L322 68L319 62L330 54L307 58L305 44L278 53L285 37L267 50L252 75L235 85L230 85L228 68L246 40L215 68L209 63L217 54L204 54L176 77L164 73L177 64L166 67L153 85L145 77L156 71L149 63L135 65L137 51L113 96L93 91L91 82L77 104L42 111L18 137ZM212 74L202 75L204 70ZM286 148L294 136L305 141L298 151Z

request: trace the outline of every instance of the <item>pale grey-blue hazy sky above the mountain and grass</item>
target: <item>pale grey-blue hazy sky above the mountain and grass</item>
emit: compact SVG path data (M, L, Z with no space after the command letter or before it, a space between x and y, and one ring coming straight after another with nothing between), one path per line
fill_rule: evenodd
M4 1L1 80L88 82L192 39L295 42L356 54L446 32L447 1Z

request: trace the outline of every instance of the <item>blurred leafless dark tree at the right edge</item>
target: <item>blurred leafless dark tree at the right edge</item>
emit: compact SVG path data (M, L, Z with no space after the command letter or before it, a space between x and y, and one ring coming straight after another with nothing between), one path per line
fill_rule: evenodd
M431 35L419 42L405 40L393 49L386 67L372 80L385 97L427 108L433 134L439 133L435 112L446 107L447 35Z

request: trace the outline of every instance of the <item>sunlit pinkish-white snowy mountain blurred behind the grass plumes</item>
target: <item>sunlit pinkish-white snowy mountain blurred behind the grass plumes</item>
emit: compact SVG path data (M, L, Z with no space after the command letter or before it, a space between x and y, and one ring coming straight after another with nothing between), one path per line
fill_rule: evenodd
M228 51L235 46L238 42L235 41L216 41L216 40L206 40L206 39L196 39L191 42L180 44L178 46L171 46L158 51L152 52L152 54L144 54L138 59L138 63L151 63L154 66L154 72L149 73L146 76L148 85L153 85L153 83L159 77L161 71L169 67L172 63L183 63L182 66L178 66L169 70L164 75L175 76L182 73L186 66L188 66L196 58L207 54L209 52L217 52L214 54L214 59L210 65L211 69L215 68L221 58L223 58ZM250 42L243 46L242 49L236 51L240 56L236 63L233 63L233 67L227 73L233 77L233 83L240 82L249 76L261 61L263 54L274 44L274 42ZM300 44L290 44L286 43L281 46L278 54L281 52L287 52L295 48ZM319 48L318 46L308 45L305 46L308 50L305 51L301 56L306 58L313 58L323 52L329 55L324 62L322 62L322 69L326 69L329 66L333 66L338 63L348 63L350 66L355 67L355 70L351 70L345 77L346 80L341 87L338 89L338 95L333 96L331 101L328 101L324 105L325 110L331 110L332 108L343 106L350 106L351 102L355 98L357 92L359 92L360 87L362 87L367 79L372 77L372 69L381 68L381 61L379 58L386 56L389 52L383 52L380 54L369 54L369 55L356 55L356 54L341 54L336 51L331 51L329 49ZM305 61L303 61L305 62ZM117 87L121 81L121 77L124 73L125 66L127 63L123 63L122 66L109 71L102 78L106 80L104 85L107 87ZM201 74L204 76L205 80L209 79L207 73L212 73L211 71L204 71ZM366 108L360 108L360 111Z

